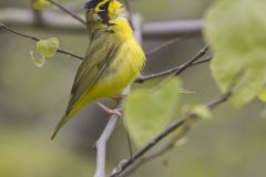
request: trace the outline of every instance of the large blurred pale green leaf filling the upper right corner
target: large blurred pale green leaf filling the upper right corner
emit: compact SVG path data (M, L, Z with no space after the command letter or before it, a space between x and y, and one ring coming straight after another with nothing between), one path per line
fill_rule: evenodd
M233 92L231 103L243 106L266 84L266 1L221 0L205 20L213 76L222 92Z

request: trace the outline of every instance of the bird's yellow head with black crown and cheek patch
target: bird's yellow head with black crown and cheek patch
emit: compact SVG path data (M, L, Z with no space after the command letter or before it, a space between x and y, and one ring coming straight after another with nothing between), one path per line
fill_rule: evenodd
M110 25L110 21L122 15L124 8L117 0L89 0L85 10L89 23Z

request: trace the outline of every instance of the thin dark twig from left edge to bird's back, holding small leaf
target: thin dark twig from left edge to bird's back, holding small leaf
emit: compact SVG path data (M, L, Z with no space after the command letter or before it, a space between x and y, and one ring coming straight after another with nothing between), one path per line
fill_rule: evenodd
M6 31L8 31L8 32L11 32L11 33L16 34L16 35L23 37L23 38L30 39L30 40L35 41L35 42L40 41L39 38L35 38L35 37L32 37L32 35L28 35L28 34L23 34L21 32L14 31L14 30L10 29L9 27L7 27L3 23L0 23L0 29L3 29ZM62 50L62 49L59 49L57 52L58 53L63 53L63 54L66 54L66 55L71 55L71 56L80 59L80 60L83 60L83 56L81 56L79 54L74 54L74 53L68 52L68 51Z

